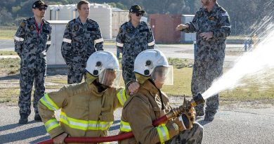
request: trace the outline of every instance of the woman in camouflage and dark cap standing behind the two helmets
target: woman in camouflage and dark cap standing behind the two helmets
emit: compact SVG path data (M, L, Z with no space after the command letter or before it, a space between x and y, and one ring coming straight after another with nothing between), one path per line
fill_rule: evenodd
M136 56L146 49L154 48L155 41L148 23L140 21L145 11L138 5L129 9L129 22L124 22L117 35L117 49L122 49L124 84L135 81L133 65Z

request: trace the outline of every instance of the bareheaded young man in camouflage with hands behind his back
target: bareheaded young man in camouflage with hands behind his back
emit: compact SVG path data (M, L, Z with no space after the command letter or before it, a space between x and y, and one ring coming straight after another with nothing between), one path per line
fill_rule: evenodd
M69 70L67 84L80 83L86 60L97 51L103 51L103 38L98 23L89 17L89 1L77 4L79 17L68 22L61 52Z

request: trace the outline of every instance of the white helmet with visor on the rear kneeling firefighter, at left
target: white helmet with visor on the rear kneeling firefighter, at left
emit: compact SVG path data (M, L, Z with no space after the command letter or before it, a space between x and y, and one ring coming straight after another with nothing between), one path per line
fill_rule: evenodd
M96 51L86 62L86 72L98 77L100 84L118 87L122 77L115 55L109 51Z

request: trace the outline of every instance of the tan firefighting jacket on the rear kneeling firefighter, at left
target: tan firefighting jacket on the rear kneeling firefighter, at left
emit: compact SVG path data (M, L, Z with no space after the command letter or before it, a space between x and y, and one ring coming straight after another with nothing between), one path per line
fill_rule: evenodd
M107 136L114 121L113 112L124 105L126 96L124 88L98 93L93 83L67 85L39 100L39 114L51 138L63 132L72 137ZM59 109L58 121L54 111Z

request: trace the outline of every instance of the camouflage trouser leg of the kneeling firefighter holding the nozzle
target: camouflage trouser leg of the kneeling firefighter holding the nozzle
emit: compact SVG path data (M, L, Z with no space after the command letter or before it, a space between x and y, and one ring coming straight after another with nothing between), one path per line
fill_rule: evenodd
M198 123L193 124L193 129L180 131L177 136L171 138L166 144L196 144L202 143L204 130Z

